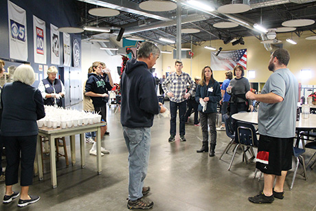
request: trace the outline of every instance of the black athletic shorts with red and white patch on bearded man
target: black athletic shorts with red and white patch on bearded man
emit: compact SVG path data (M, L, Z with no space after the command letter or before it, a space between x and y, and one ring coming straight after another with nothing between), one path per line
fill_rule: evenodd
M292 168L293 137L260 135L256 168L269 175L281 175Z

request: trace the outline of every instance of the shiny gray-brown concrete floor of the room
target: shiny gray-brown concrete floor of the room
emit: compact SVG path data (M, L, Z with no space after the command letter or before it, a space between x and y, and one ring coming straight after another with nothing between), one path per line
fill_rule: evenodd
M169 102L166 102L169 106ZM193 115L192 115L193 118ZM216 155L196 153L201 147L201 128L186 124L187 142L168 143L169 118L155 118L152 127L152 144L148 175L145 185L151 192L147 199L154 201L152 210L316 210L316 172L307 168L308 181L298 170L293 190L289 190L293 172L286 177L284 199L275 199L272 204L258 205L248 201L263 187L263 181L253 179L255 163L245 164L242 155L236 155L234 164L227 171L232 151L219 160L229 138L225 131L218 132ZM76 137L76 166L66 168L65 160L57 162L58 187L52 189L49 163L45 162L43 181L34 177L30 194L40 195L38 203L17 208L12 203L0 205L0 210L127 210L128 197L128 153L122 135L120 111L108 112L109 136L102 146L111 151L102 157L102 175L97 175L95 157L89 155L91 144L86 144L86 168L80 168L79 137ZM179 130L178 130L179 131ZM67 141L67 145L69 140ZM70 147L68 146L70 152ZM313 151L306 152L306 159ZM70 161L70 157L69 157ZM293 165L294 166L294 165ZM4 182L1 182L4 190ZM14 186L19 190L19 185Z

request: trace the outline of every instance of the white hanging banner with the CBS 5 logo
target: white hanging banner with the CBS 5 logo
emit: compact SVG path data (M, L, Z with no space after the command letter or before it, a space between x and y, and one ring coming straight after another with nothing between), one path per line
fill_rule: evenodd
M26 11L8 1L10 58L27 60Z

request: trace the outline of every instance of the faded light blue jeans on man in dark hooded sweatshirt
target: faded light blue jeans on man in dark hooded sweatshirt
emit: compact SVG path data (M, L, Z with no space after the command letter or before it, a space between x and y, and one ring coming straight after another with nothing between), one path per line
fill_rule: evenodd
M123 126L123 133L129 153L128 199L135 201L143 197L150 154L150 127L131 129Z

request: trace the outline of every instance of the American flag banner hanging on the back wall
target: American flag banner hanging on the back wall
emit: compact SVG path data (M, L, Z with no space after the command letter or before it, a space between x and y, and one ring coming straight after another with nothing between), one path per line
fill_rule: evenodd
M236 65L247 69L247 49L221 52L218 56L211 52L212 70L233 70Z

